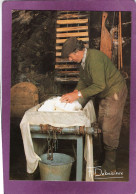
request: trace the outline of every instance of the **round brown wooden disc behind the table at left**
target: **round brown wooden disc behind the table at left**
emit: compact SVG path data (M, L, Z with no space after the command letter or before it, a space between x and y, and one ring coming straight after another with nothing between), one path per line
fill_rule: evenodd
M26 110L38 103L38 89L32 83L22 82L11 88L11 117L23 117Z

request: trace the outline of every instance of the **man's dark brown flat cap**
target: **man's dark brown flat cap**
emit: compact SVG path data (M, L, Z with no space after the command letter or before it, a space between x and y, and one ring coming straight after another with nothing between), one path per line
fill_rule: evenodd
M62 58L67 58L70 53L73 53L77 48L78 40L76 37L71 37L66 40L62 47Z

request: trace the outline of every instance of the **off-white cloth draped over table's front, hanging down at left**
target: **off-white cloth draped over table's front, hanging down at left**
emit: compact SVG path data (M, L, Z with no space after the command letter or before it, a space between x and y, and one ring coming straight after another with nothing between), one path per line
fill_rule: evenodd
M41 104L38 104L26 111L20 123L28 173L33 173L38 166L38 161L41 160L34 152L30 125L49 124L54 127L91 127L91 123L96 120L92 101L89 101L82 111L74 112L39 112L40 106Z

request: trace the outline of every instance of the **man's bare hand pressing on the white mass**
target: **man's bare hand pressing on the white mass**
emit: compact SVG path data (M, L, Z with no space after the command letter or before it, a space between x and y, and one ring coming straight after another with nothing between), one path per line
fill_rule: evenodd
M72 103L75 100L77 100L78 98L79 98L79 96L78 96L78 90L74 90L71 93L64 94L61 97L60 101L61 102L66 102L66 103Z

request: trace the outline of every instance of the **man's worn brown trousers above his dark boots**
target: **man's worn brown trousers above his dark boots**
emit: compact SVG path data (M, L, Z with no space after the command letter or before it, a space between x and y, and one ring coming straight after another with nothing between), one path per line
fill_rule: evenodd
M99 127L103 132L103 143L111 149L119 145L123 110L127 98L127 86L110 97L100 100L99 103Z

